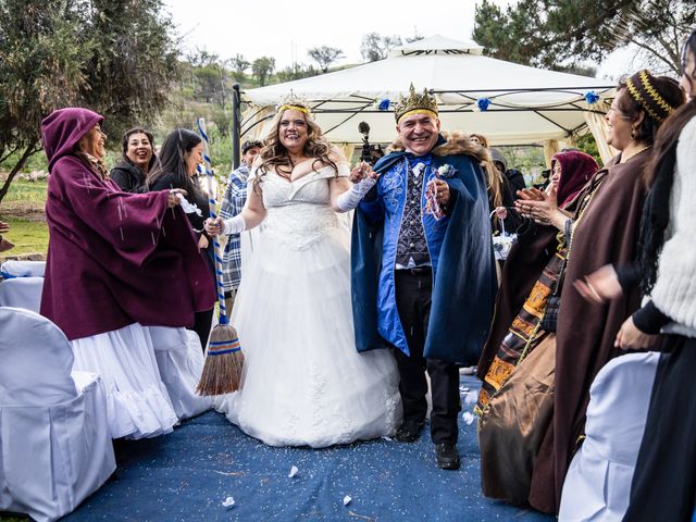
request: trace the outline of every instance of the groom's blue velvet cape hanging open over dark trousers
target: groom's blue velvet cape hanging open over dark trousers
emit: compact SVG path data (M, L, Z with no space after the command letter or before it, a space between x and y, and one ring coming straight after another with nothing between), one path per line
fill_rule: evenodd
M424 356L464 365L475 364L488 335L497 289L488 217L486 181L473 156L437 156L423 187L440 165L451 165L449 215L435 222L423 213L433 263L434 285ZM452 150L452 147L448 147ZM394 270L396 241L406 195L406 156L393 152L375 165L381 174L377 199L363 201L353 221L352 310L359 351L390 344L409 353L396 309ZM425 189L421 197L424 207ZM386 225L386 226L385 226Z

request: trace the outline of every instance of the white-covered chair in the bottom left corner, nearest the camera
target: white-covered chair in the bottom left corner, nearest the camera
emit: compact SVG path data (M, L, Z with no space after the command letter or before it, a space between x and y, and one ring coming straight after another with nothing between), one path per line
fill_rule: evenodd
M37 313L0 308L0 510L52 521L116 469L103 384Z

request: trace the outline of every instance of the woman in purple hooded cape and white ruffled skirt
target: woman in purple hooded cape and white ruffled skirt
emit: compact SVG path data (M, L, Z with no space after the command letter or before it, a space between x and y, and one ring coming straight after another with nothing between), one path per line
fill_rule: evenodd
M72 341L74 369L102 375L112 436L156 436L177 418L142 326L190 326L214 290L176 196L126 194L109 178L102 121L67 108L41 123L50 172L41 314Z

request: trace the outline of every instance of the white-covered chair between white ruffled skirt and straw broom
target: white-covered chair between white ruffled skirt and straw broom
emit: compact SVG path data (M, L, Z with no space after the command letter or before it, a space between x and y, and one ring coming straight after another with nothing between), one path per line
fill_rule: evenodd
M213 407L212 397L196 395L203 371L203 350L196 332L149 326L157 365L172 406L179 419L188 419Z

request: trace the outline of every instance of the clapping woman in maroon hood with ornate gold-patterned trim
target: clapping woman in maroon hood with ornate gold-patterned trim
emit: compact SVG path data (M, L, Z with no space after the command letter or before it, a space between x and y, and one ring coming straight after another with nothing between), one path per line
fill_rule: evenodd
M510 251L492 333L478 363L483 380L476 405L482 418L482 484L489 497L527 504L534 459L546 430L543 419L550 420L552 411L555 334L551 325L542 324L542 318L564 266L564 228L576 207L575 196L597 167L594 158L584 152L560 152L551 160L548 194L537 189L521 194L523 200L544 201L548 220L536 210L532 215L524 203L518 206L527 216L546 223L521 234ZM532 377L537 381L535 387L526 385L530 371L539 372ZM517 408L518 389L523 389L524 401L534 403L532 410ZM525 423L537 426L537 435L520 430Z

